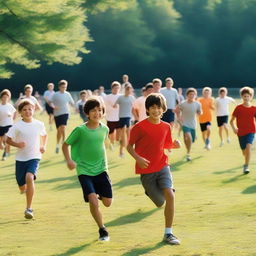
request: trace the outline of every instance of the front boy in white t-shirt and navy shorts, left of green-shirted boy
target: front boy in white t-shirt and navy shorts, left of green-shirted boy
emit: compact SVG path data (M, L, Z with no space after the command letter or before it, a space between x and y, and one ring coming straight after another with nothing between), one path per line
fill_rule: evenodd
M47 134L44 123L33 118L35 105L30 100L22 100L18 105L22 120L16 122L7 133L7 143L17 147L16 180L21 193L26 193L26 219L32 219L34 180L42 153L45 152Z

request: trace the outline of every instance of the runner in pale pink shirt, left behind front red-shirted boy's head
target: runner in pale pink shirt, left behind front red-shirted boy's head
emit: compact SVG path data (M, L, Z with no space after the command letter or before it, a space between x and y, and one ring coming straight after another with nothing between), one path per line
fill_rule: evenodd
M141 92L142 92L142 96L138 97L134 101L133 108L132 108L132 113L135 118L135 123L147 118L145 101L147 96L153 92L153 84L148 83L145 87L142 88Z

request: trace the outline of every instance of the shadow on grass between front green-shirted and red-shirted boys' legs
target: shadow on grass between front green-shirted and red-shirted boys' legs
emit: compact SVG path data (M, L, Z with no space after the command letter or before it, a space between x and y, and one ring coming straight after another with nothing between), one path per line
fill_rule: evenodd
M158 208L155 208L155 209L150 210L148 212L142 212L142 211L138 210L134 213L130 213L128 215L121 216L121 217L119 217L115 220L112 220L112 221L106 223L106 226L107 227L113 227L113 226L122 226L122 225L126 225L126 224L129 224L129 223L136 223L136 222L139 222L142 219L145 219L148 216L152 215L157 210L158 210Z

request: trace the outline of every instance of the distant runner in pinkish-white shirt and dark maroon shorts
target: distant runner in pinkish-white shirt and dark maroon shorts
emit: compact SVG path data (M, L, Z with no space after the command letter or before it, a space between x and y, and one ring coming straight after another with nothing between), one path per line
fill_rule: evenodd
M118 97L120 96L120 89L121 84L117 81L114 81L111 84L111 94L108 94L104 97L104 103L106 106L106 120L107 126L109 128L109 140L111 150L113 150L115 141L119 141L121 131L119 124L119 106L117 105L116 108L113 107Z

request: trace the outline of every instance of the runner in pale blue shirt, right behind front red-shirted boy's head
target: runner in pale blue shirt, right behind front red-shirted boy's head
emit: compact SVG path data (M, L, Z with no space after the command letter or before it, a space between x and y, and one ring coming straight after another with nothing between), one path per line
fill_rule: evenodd
M163 114L162 120L169 123L171 127L173 127L175 120L174 110L180 103L178 92L173 88L173 84L172 78L167 77L165 79L166 87L160 89L160 93L165 97L167 104L167 111Z

